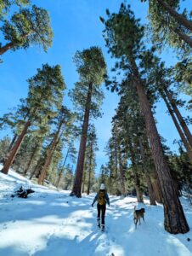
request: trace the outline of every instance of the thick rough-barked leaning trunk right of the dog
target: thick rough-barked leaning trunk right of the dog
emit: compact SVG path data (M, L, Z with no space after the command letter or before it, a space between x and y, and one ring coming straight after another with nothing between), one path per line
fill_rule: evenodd
M138 67L133 59L130 61L133 69L134 83L138 91L139 103L144 114L146 130L150 139L150 147L152 149L152 155L155 162L155 169L161 184L165 230L172 234L184 234L189 231L189 225L187 224L183 207L181 206L178 195L172 183L170 170L163 154L161 139L156 129L155 119L150 108L150 103L144 91L142 80L140 79L138 73Z

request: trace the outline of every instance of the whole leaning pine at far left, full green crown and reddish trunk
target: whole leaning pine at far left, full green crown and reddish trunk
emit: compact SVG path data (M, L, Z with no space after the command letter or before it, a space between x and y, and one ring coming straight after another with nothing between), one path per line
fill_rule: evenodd
M48 64L42 65L42 69L37 69L37 75L28 79L28 83L29 92L26 104L29 114L1 170L4 174L8 174L8 169L12 165L29 128L32 125L46 125L49 119L54 118L58 109L61 108L65 82L59 65L55 67L50 67Z

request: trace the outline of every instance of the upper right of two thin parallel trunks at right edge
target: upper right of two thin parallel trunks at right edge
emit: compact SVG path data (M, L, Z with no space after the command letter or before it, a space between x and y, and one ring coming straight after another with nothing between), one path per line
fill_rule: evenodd
M164 91L167 95L167 98L169 99L169 102L172 105L172 109L174 111L174 113L176 114L178 121L180 123L180 125L182 126L183 130L184 130L184 134L187 137L188 141L189 141L189 145L192 148L192 136L191 133L189 131L188 126L186 125L184 118L182 117L181 113L178 110L177 104L174 102L174 100L172 99L172 94L167 90L167 88L164 87Z

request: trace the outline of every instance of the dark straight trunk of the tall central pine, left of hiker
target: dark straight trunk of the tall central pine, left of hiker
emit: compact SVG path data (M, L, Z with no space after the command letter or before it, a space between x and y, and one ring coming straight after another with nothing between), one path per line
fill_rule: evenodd
M87 137L88 137L88 120L89 120L89 113L90 113L90 107L91 107L92 90L93 90L93 84L90 83L88 85L88 96L86 100L85 113L84 113L84 119L83 119L83 125L82 125L82 137L81 137L81 142L79 147L78 160L76 164L76 177L75 177L73 189L71 191L71 196L76 195L76 197L82 197L82 194L81 194L82 175L83 175L83 166L84 166L84 160L85 160L86 143L87 143Z

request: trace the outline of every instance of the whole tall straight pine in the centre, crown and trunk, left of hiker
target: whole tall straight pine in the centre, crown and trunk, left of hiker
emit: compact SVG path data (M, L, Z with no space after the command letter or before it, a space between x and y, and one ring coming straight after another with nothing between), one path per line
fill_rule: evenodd
M83 114L81 142L78 159L76 163L76 177L71 195L81 197L83 166L85 160L86 143L88 137L89 118L100 116L99 108L103 100L103 93L99 85L104 81L106 65L104 56L99 47L77 51L75 55L77 72L80 81L76 83L75 89L71 91L71 99Z

